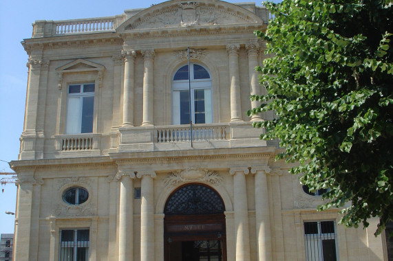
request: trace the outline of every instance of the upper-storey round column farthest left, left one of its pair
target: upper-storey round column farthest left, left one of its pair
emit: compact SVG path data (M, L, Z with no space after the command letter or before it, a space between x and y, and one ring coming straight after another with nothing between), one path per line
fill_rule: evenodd
M122 51L125 57L124 94L123 94L123 126L134 126L134 50ZM145 88L145 87L144 87Z

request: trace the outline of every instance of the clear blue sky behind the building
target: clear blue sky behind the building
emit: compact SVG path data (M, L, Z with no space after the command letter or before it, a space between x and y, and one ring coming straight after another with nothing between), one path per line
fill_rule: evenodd
M250 0L229 1L231 3ZM10 172L8 163L19 153L19 137L23 131L25 94L28 78L28 55L21 41L32 36L32 23L36 20L66 20L122 14L126 9L148 8L162 1L124 0L2 0L0 1L0 172ZM257 5L262 5L256 1ZM0 176L0 179L4 176ZM13 184L1 185L0 233L13 233L17 188Z

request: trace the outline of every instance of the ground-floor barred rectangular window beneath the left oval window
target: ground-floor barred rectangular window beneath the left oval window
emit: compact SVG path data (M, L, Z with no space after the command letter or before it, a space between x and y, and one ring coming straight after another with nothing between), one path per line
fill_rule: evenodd
M60 238L60 261L89 260L89 229L63 229Z

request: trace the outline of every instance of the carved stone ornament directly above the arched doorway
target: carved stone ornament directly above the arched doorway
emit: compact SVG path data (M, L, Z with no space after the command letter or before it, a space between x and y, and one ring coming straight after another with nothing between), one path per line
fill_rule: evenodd
M214 170L206 170L192 166L185 170L178 170L176 172L169 173L165 178L164 183L166 187L173 187L180 183L186 183L189 181L200 181L211 183L212 185L220 185L223 178Z

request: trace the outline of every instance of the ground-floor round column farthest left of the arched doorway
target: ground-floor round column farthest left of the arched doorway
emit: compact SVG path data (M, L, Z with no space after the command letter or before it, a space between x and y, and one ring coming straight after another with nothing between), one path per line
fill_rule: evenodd
M135 174L118 172L115 179L120 179L119 207L119 261L134 259L134 179Z

